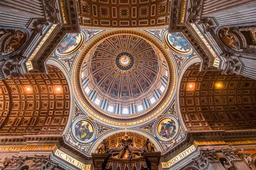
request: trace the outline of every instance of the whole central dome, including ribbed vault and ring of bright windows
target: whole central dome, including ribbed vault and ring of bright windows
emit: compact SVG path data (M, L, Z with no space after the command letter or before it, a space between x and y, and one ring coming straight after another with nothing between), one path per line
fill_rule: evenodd
M96 45L81 73L85 96L105 115L145 113L168 87L166 61L147 40L117 34Z

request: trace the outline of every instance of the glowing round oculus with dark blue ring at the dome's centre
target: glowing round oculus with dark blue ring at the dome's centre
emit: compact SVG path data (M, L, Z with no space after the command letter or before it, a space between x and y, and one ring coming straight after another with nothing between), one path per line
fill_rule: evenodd
M129 70L134 65L134 58L130 53L120 53L116 57L116 65L121 70Z

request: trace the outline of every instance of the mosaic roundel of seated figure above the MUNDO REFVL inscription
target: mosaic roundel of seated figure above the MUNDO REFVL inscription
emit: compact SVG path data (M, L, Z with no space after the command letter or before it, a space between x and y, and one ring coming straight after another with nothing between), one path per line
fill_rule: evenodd
M177 130L177 123L171 118L162 119L157 126L158 136L163 140L172 139L177 133Z

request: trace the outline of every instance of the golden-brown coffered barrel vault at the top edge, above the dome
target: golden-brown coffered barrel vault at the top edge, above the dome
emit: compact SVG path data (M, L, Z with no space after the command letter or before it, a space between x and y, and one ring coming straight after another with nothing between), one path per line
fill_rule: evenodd
M81 26L155 27L169 23L171 1L80 0Z

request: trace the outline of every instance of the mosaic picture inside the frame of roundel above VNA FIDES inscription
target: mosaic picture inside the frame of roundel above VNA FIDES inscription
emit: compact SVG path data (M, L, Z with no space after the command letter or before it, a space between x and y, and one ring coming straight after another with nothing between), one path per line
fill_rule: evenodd
M86 142L93 137L94 130L90 122L81 120L75 124L74 133L77 139Z

